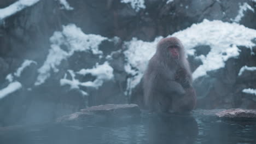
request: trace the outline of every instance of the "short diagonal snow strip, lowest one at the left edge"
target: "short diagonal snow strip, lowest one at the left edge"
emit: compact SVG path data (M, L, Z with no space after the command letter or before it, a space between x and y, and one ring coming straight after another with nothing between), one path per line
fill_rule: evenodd
M0 99L6 97L10 93L18 91L21 87L22 85L18 81L9 83L7 87L0 90Z

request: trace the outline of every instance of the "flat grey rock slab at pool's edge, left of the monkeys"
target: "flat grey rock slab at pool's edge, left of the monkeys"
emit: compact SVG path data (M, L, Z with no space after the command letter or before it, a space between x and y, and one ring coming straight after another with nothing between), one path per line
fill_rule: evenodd
M124 122L131 118L138 118L141 111L136 104L107 104L88 107L80 112L62 116L56 119L65 124L97 124L103 122Z

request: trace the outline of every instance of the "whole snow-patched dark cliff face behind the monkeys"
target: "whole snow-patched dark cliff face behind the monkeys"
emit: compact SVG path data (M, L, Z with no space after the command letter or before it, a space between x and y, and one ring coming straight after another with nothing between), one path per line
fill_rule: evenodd
M255 1L0 2L0 125L141 92L161 38L182 40L197 107L256 109ZM141 93L139 93L141 94Z

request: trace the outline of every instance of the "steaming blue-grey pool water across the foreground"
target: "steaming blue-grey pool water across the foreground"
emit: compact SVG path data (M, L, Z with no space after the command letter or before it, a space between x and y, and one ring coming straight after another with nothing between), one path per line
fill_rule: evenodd
M90 126L41 124L0 128L0 143L256 143L256 121L144 115Z

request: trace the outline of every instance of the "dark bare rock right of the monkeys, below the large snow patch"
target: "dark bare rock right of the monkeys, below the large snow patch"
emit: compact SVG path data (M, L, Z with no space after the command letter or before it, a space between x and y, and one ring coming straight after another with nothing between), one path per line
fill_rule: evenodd
M256 56L251 50L240 47L240 56L230 58L225 67L209 71L206 76L194 81L197 92L197 107L202 109L230 109L241 107L243 109L256 109L254 95L242 93L245 88L256 88L255 71L245 71L238 75L244 65L255 67ZM252 52L256 52L253 47Z

